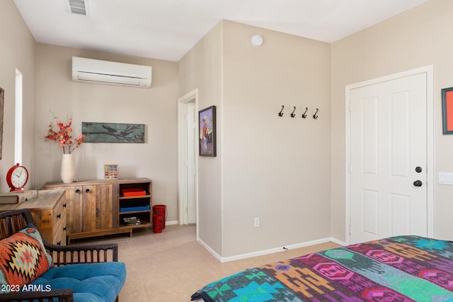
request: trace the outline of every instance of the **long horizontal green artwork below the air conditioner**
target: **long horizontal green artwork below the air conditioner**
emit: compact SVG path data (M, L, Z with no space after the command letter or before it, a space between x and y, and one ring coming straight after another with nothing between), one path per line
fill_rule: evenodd
M144 124L82 122L86 143L144 143Z

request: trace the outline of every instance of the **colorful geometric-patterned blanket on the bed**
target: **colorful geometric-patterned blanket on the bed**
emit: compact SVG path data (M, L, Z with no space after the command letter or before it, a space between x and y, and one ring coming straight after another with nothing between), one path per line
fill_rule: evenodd
M450 301L453 243L397 236L246 269L197 291L233 301Z

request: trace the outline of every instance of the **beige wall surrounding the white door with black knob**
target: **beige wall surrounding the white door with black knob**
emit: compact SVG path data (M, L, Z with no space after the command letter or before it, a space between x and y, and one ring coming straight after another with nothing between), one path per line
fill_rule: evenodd
M453 137L442 135L440 90L453 86L453 1L432 0L332 45L332 226L345 239L345 86L434 64L434 236L452 240L453 186L439 185L452 172ZM430 168L430 167L428 167ZM429 184L428 184L429 185Z

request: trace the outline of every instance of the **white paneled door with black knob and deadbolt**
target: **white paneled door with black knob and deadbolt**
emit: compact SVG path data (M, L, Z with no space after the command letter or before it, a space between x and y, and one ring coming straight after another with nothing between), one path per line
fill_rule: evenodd
M350 90L350 243L427 236L427 91L426 73Z

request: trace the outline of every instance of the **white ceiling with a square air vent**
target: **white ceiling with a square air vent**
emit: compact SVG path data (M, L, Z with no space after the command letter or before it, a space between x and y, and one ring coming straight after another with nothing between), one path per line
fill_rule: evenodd
M428 0L13 0L37 42L178 61L222 19L334 42Z

